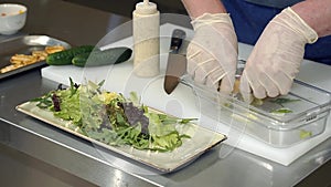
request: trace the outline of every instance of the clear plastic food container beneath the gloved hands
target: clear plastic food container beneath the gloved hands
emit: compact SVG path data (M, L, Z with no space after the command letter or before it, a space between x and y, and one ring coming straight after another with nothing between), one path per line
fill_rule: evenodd
M190 75L181 82L192 87L200 112L274 147L289 147L324 132L330 116L331 93L295 81L288 95L242 101L195 83Z

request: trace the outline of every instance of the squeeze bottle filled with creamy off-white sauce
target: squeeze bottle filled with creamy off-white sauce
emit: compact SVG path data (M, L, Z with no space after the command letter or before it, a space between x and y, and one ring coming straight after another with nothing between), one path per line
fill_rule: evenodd
M151 77L160 73L160 12L157 4L143 0L134 15L134 72Z

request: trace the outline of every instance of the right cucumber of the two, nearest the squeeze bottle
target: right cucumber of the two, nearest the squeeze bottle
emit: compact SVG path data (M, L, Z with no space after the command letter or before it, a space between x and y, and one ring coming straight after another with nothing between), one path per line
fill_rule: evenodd
M118 64L131 58L132 50L126 46L110 48L104 51L94 50L90 53L82 53L72 60L76 66L99 66Z

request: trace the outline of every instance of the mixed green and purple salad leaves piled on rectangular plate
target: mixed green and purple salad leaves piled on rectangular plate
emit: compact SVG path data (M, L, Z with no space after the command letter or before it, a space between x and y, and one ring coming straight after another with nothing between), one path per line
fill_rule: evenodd
M107 145L129 145L137 149L171 152L189 135L180 134L177 125L195 118L169 116L139 103L135 92L126 98L120 93L103 91L104 82L77 85L70 79L70 87L51 91L31 100L40 108L70 121L76 132Z

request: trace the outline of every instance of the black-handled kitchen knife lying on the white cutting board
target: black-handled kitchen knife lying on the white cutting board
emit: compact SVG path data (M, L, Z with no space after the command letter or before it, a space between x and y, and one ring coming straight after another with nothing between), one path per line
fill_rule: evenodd
M172 93L172 91L180 83L180 77L186 72L186 56L179 53L185 37L186 33L183 30L175 29L172 31L163 83L163 89L167 94Z

